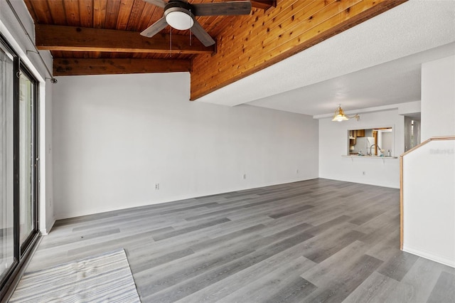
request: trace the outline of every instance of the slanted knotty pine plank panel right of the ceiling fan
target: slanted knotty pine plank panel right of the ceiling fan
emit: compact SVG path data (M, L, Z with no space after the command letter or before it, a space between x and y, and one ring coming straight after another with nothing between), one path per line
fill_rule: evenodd
M280 0L218 34L215 55L197 55L191 100L257 73L407 0ZM317 63L315 63L317 64Z

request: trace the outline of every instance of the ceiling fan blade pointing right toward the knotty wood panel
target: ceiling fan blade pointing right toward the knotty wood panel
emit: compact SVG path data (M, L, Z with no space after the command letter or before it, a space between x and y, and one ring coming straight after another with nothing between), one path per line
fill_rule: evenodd
M250 1L229 1L192 4L195 16L230 16L249 15L251 12Z

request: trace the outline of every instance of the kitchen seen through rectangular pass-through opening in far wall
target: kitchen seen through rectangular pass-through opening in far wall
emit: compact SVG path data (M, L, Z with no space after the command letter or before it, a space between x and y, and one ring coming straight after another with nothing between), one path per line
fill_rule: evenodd
M392 127L348 130L349 156L393 156Z

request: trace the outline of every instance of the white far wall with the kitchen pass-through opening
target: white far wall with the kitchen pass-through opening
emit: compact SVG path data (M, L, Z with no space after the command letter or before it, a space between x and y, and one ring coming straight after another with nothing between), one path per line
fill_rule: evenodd
M404 117L398 112L399 105L395 109L360 113L359 121L333 122L331 117L319 119L319 177L400 188L399 159L341 156L348 153L349 129L378 127L393 127L392 156L400 156L404 151Z

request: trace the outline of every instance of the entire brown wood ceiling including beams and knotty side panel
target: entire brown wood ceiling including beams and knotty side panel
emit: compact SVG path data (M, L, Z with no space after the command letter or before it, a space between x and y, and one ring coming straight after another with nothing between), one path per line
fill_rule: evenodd
M143 0L24 1L54 76L189 71L195 100L407 0L251 1L248 16L197 17L217 41L210 47L169 26L140 36L164 12Z

